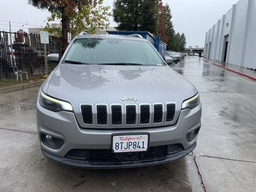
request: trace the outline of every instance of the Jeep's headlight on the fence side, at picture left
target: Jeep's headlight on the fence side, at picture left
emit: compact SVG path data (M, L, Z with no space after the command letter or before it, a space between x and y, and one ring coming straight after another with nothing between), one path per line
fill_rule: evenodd
M58 100L55 98L52 98L44 92L41 91L39 96L39 103L43 108L46 108L50 111L58 112L58 111L69 111L73 112L72 105L68 102Z

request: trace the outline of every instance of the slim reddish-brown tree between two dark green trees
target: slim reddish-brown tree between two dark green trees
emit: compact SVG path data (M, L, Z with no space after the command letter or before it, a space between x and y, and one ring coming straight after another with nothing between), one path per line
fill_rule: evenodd
M157 35L160 36L160 40L167 43L169 37L166 34L166 8L163 6L162 0L158 0L158 29Z

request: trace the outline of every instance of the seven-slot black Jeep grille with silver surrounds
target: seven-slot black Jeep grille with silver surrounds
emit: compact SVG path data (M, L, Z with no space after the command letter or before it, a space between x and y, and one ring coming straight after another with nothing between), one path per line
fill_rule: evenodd
M176 105L160 104L81 104L81 115L87 125L159 124L174 120ZM95 111L95 112L94 112ZM109 117L109 118L108 118Z

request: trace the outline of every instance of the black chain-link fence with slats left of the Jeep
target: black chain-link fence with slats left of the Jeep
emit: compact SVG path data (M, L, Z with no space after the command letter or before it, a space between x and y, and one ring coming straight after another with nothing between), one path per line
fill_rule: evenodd
M61 50L61 38L49 36L46 53L61 55ZM48 74L56 65L48 63ZM0 80L15 78L17 70L28 76L46 74L44 44L39 34L0 32Z

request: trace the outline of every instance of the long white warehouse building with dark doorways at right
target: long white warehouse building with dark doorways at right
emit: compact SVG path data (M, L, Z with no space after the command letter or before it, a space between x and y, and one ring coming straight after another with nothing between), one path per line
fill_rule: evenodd
M256 68L256 0L240 0L206 32L204 57Z

